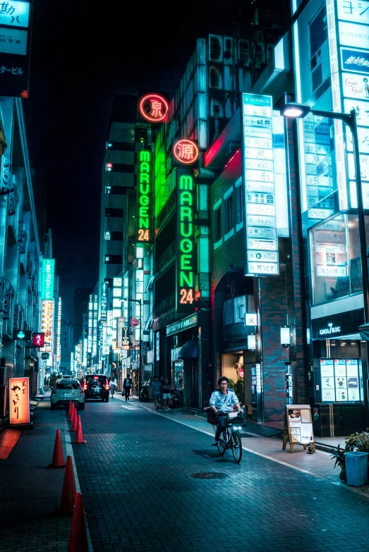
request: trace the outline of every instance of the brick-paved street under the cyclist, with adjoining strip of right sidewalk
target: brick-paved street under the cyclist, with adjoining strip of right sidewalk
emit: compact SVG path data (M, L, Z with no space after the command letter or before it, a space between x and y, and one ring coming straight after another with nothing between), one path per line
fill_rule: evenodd
M339 485L327 453L282 453L248 434L257 454L236 465L190 415L115 398L82 417L87 446L73 450L95 552L369 551L369 501Z

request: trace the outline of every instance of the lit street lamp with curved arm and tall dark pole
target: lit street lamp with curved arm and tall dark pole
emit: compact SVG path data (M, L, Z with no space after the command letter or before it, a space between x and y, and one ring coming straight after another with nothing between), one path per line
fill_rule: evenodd
M360 238L360 257L361 272L363 277L363 299L364 299L364 321L363 326L359 326L359 331L363 330L363 337L366 331L365 339L369 340L369 275L368 275L368 254L366 250L365 238L365 218L363 206L363 188L361 183L360 154L358 149L358 125L356 122L356 111L351 109L350 113L336 113L334 111L320 111L320 109L311 109L305 104L289 103L281 110L281 115L289 118L303 118L308 113L319 117L338 119L343 121L351 130L353 142L353 163L356 176L356 197L358 202L358 234Z

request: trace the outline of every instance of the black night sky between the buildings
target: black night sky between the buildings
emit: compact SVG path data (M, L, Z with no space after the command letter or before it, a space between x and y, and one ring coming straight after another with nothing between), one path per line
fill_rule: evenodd
M64 317L73 317L74 288L92 288L98 279L101 171L113 94L173 94L196 37L236 32L237 22L248 20L249 4L35 0L26 123L30 164L47 180L47 227L61 297L68 300Z

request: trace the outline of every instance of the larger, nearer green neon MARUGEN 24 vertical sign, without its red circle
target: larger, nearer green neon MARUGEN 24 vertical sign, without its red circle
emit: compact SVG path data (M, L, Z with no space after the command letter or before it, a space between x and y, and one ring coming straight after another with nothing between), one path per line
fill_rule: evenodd
M176 312L193 312L195 296L195 192L193 175L177 169Z

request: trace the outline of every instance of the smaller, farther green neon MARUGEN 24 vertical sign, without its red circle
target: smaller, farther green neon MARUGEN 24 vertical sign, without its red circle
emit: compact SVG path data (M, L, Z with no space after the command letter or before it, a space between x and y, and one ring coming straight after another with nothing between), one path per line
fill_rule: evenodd
M151 152L138 152L137 241L151 241Z

